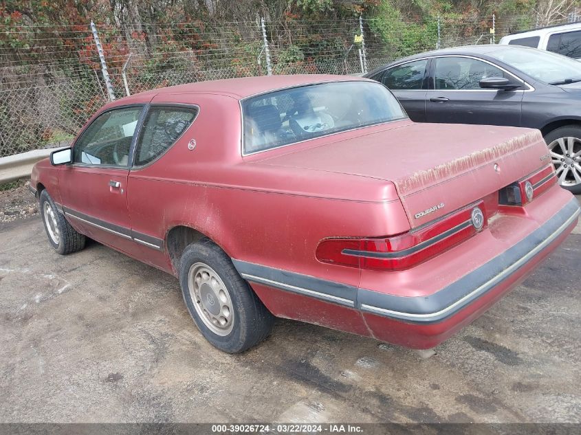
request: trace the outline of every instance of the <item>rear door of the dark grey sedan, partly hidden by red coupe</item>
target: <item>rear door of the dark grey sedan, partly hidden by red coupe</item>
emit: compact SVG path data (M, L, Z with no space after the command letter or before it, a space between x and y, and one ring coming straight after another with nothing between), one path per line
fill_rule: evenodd
M415 122L426 120L426 91L428 89L428 59L411 60L390 67L373 77L382 82L402 104Z

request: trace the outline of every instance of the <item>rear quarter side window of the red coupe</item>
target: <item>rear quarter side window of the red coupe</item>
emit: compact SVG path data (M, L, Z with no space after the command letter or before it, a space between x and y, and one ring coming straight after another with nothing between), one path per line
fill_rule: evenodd
M144 166L166 152L197 115L190 107L151 107L143 123L134 166Z

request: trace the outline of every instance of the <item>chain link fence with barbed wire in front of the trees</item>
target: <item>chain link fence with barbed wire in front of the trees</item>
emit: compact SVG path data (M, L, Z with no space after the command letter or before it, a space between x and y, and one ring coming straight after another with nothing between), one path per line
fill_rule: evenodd
M437 47L495 43L532 16L96 25L116 98L202 80L361 74ZM2 28L0 157L67 146L109 100L89 23ZM494 33L493 33L494 32ZM267 41L267 45L265 45ZM125 80L124 80L125 79ZM127 86L126 86L127 82Z

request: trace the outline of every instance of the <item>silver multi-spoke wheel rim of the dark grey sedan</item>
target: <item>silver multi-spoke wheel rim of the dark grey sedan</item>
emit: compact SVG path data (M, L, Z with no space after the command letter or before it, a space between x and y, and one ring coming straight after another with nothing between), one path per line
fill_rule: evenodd
M581 139L559 137L549 144L551 161L557 171L561 186L577 186L581 183Z

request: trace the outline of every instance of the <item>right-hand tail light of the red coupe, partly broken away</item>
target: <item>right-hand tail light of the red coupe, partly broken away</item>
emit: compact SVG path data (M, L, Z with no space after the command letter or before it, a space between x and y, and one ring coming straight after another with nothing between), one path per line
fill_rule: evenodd
M542 192L545 192L554 183L557 177L552 166L542 168L533 175L527 175L524 179L498 191L498 203L501 205L516 205L522 207L531 202Z

